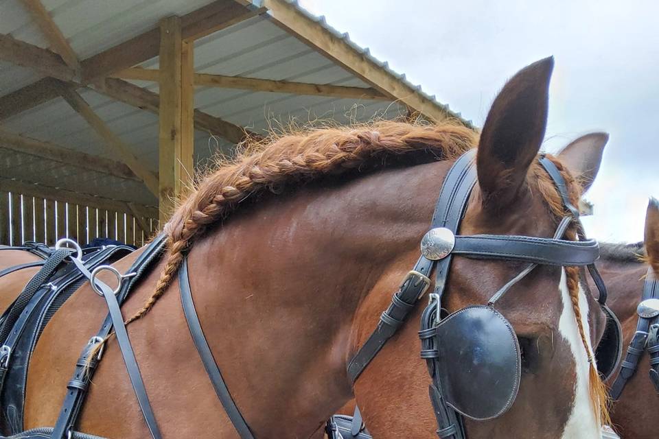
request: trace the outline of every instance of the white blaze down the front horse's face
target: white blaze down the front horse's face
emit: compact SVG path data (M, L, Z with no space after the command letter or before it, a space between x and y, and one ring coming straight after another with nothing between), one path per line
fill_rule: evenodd
M563 338L570 345L570 351L575 357L577 366L577 382L575 383L575 400L572 406L572 412L565 425L562 439L596 439L600 438L600 425L592 410L589 392L589 364L588 353L581 341L579 328L577 327L577 318L570 300L568 283L565 269L562 269L561 283L559 284L561 299L563 302L563 312L558 324L558 330ZM590 346L590 327L588 325L588 301L586 294L583 293L579 285L579 309L581 310L581 324L586 331L586 341L588 350L592 355L592 346Z

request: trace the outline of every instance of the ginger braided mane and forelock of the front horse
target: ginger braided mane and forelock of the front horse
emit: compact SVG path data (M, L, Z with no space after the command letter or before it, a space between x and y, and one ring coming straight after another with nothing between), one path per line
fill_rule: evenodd
M420 125L376 121L359 126L293 132L241 145L242 154L233 161L220 163L218 169L200 179L196 190L189 193L165 225L163 230L167 234L168 249L165 267L152 296L126 320L126 324L143 317L165 293L194 241L203 236L209 226L227 218L248 196L279 193L295 183L310 182L323 176L347 174L378 165L384 167L387 159L411 154L424 154L430 160L451 160L474 148L477 141L478 133L454 122ZM577 205L581 195L579 185L557 158L548 157L559 167L568 182L570 200ZM529 172L535 174L549 211L559 221L567 213L553 180L537 163ZM576 239L576 228L570 228L567 235L568 239ZM599 420L609 422L608 396L581 322L579 270L566 268L566 276L577 326L590 363L592 407Z

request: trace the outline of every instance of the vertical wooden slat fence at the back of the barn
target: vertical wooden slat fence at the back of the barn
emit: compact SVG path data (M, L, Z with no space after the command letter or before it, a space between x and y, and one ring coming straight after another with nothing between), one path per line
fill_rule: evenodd
M143 209L120 202L104 206L101 200L91 206L0 191L0 244L38 241L53 245L67 237L84 246L99 237L140 247L158 229L158 219L139 215Z

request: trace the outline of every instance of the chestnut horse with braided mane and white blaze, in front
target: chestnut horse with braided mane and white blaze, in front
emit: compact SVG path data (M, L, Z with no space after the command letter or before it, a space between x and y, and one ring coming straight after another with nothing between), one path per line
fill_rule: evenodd
M163 436L238 437L183 316L175 274L185 253L205 335L255 437L308 438L353 392L376 437L435 437L419 359L423 307L354 389L346 365L416 261L456 156L478 146L478 184L461 234L553 235L566 212L537 164L552 69L548 58L509 80L479 141L447 124L315 130L275 139L204 178L165 226L167 254L124 304ZM551 160L577 202L568 165ZM566 236L575 239L575 229ZM140 252L115 267L124 272ZM448 310L486 303L519 271L520 263L455 257L443 303ZM579 276L542 266L498 302L520 344L535 348L524 350L516 402L499 418L465 420L470 439L599 438L601 383L589 359L604 316ZM25 428L54 425L80 348L106 313L86 284L47 324L30 363ZM114 339L77 429L148 437Z

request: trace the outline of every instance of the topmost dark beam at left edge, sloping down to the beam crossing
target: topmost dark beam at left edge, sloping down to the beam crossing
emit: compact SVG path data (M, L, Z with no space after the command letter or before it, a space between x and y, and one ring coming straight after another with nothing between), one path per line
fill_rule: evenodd
M16 40L9 35L0 34L0 60L12 62L62 81L76 78L76 71L67 66L58 54Z

